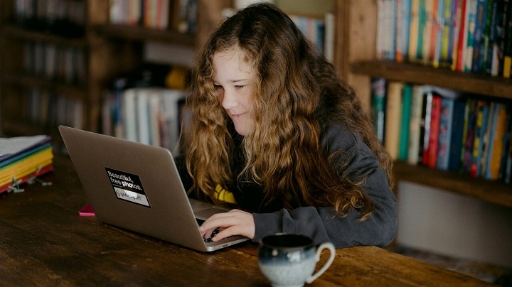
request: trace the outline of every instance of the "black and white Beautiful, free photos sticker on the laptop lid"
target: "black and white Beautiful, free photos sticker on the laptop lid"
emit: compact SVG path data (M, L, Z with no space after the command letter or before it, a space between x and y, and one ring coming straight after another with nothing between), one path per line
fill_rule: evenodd
M110 184L112 184L117 198L137 203L138 205L151 207L138 175L125 173L124 171L114 170L112 168L105 168L105 170L107 170Z

